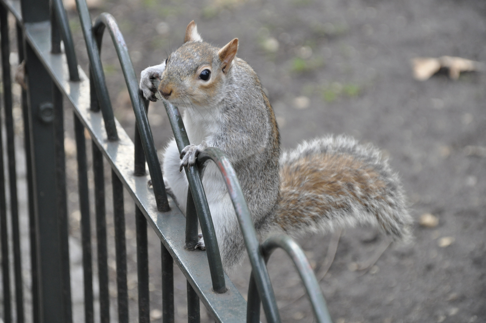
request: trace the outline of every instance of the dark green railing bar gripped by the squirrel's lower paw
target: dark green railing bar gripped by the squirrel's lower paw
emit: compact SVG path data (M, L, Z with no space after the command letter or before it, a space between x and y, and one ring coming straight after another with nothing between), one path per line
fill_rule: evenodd
M163 101L163 103L169 117L169 122L172 126L172 132L174 132L177 148L180 152L185 146L189 145L189 138L184 123L182 122L181 114L179 109L169 102ZM192 193L197 216L201 223L201 231L203 232L204 243L208 254L209 271L211 272L213 290L218 293L224 293L226 291L225 274L221 262L221 254L219 253L218 240L216 238L216 233L214 232L214 225L209 211L208 200L204 193L203 183L201 182L201 177L196 165L190 167L185 166L184 169L186 171L186 177L189 182L189 189ZM191 219L186 218L186 221L188 220Z

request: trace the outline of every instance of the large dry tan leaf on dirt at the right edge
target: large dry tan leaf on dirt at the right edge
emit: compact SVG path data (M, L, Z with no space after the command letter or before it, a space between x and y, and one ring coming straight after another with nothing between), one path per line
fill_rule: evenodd
M448 69L449 77L457 80L461 72L482 72L486 70L486 65L455 56L441 56L439 58L416 57L412 59L412 68L415 79L419 81L428 80L441 68Z

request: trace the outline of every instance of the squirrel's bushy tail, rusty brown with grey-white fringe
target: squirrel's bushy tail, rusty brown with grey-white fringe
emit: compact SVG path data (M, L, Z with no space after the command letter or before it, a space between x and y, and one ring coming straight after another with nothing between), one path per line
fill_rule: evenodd
M372 224L396 239L410 237L398 175L371 144L346 136L304 142L280 157L280 180L273 221L287 233Z

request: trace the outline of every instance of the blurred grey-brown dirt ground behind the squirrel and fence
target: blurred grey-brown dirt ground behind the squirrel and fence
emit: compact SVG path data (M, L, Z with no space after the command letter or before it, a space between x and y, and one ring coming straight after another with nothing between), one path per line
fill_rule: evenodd
M439 73L419 82L412 77L410 60L451 55L486 62L485 10L484 1L473 0L103 0L91 15L107 11L117 19L137 73L180 46L192 19L214 45L238 37L237 55L259 74L284 147L345 133L376 144L390 157L416 219L415 239L386 248L386 238L374 229L342 233L320 282L333 322L472 323L486 322L486 76L463 73L452 81ZM87 71L79 20L74 11L69 16ZM107 35L102 59L115 114L133 136L134 115ZM69 145L72 120L69 111L66 115ZM151 104L149 120L162 148L172 132L161 104ZM79 271L74 153L68 153L67 166L71 258L73 270ZM137 322L134 207L128 196L125 204L130 317ZM419 225L423 214L434 215L438 224ZM113 240L112 231L109 237ZM160 247L155 234L149 233L149 239L152 319L161 322ZM331 234L299 239L317 271L330 240ZM371 266L359 270L364 264ZM176 321L185 322L186 284L175 271ZM299 298L298 275L283 252L271 257L269 272L283 321L312 323L307 299ZM245 297L249 273L245 261L230 274ZM83 320L81 283L81 275L73 273L75 322ZM115 286L111 289L116 296ZM204 309L201 313L202 322L212 322ZM115 299L112 317L116 320Z

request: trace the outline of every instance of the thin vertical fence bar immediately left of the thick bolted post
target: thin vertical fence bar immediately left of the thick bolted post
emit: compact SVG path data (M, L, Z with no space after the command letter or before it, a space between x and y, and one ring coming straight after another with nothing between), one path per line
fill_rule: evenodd
M22 27L17 24L17 49L18 61L24 62L24 38ZM25 62L24 62L25 63ZM29 237L31 251L31 278L32 278L32 322L39 322L39 288L38 288L38 269L37 269L37 240L35 233L35 209L34 209L34 182L32 177L32 159L31 159L31 138L30 138L30 121L29 110L27 106L27 91L22 87L21 91L22 120L24 123L24 149L27 172L27 198L29 201Z

